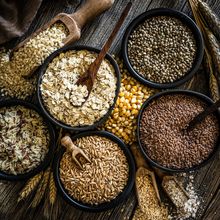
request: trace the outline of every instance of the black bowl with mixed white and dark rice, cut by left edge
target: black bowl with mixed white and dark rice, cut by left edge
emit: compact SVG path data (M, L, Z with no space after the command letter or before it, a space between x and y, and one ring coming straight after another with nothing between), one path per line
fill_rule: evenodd
M52 125L33 104L0 101L0 179L28 179L44 170L55 149Z

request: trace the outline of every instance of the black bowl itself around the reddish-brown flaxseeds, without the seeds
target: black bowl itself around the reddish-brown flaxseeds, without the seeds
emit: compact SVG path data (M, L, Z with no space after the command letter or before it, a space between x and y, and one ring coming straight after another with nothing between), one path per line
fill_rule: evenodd
M170 90L170 91L165 91L165 92L160 92L154 96L151 96L149 99L147 99L144 104L142 105L141 107L141 110L139 112L139 115L138 115L138 124L137 124L137 140L138 140L138 145L141 149L141 152L143 154L143 156L145 157L145 159L153 166L161 169L161 170L164 170L164 171L167 171L167 172L189 172L189 171L194 171L194 170L197 170L201 167L203 167L204 165L208 164L212 159L213 157L217 154L218 150L219 150L219 145L220 145L220 136L218 137L218 141L217 141L217 144L215 146L215 148L213 149L213 151L211 152L211 154L209 155L209 157L204 160L203 162L201 162L200 164L196 165L196 166L193 166L193 167L190 167L190 168L184 168L184 169L175 169L175 168L168 168L168 167L165 167L165 166L162 166L161 164L157 163L156 161L152 160L150 158L150 156L148 156L148 154L146 153L146 151L144 150L142 144L141 144L141 141L140 141L140 123L141 123L141 118L142 118L142 114L143 114L143 111L148 107L148 105L150 103L152 103L154 100L162 97L162 96L165 96L165 95L174 95L174 94L185 94L185 95L190 95L192 97L196 97L198 99L200 99L201 101L204 101L205 103L207 103L208 105L212 105L213 104L213 101L207 97L206 95L203 95L202 93L198 93L198 92L195 92L195 91L190 91L190 90ZM216 112L215 113L217 118L218 118L218 123L219 123L219 126L220 126L220 118L219 118L219 112Z

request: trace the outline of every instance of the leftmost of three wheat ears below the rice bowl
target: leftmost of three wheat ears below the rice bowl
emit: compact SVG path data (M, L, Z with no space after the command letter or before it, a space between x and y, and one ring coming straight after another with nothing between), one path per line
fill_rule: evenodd
M24 188L19 193L18 202L27 198L30 195L30 193L34 191L34 189L36 188L36 186L40 182L42 176L43 176L43 172L35 175L30 180L28 180L28 182L25 184Z

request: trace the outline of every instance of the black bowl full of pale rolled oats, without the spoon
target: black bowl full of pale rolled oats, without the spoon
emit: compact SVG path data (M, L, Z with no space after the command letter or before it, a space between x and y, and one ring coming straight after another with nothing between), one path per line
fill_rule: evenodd
M88 90L86 86L77 86L77 79L99 51L88 46L67 46L45 60L40 69L37 95L43 112L54 124L85 131L103 124L111 114L121 76L117 63L109 54L100 66L88 100L80 106Z

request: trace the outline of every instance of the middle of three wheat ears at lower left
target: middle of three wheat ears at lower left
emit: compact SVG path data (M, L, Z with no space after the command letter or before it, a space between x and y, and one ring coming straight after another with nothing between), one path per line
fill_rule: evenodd
M44 197L49 178L50 178L50 168L47 168L47 170L44 172L43 179L40 182L37 192L32 201L32 204L31 204L32 208L37 207L37 205L40 203L40 201Z

